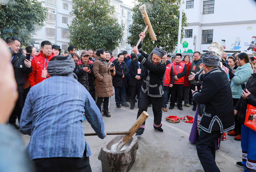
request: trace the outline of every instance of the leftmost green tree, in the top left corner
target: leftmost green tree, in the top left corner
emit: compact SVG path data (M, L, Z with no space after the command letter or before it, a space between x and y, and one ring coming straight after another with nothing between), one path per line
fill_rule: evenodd
M22 45L44 26L47 8L38 0L5 0L0 4L0 34L2 39L14 36Z

